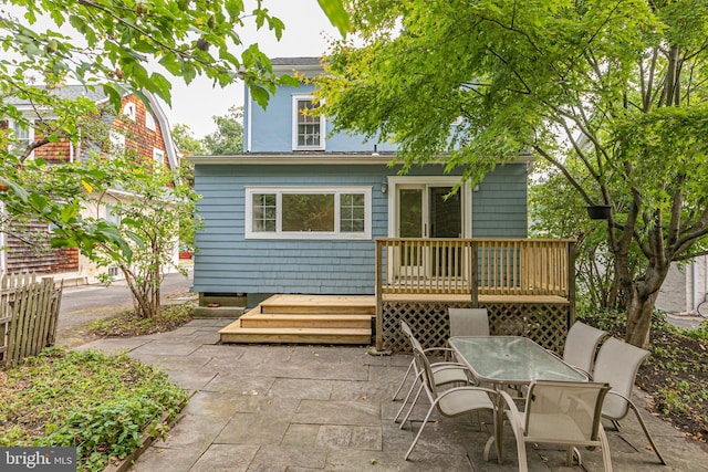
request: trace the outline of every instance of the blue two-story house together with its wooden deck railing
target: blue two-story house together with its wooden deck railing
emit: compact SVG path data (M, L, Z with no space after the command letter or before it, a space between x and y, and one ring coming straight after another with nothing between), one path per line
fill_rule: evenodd
M316 57L272 63L279 73L322 72ZM202 301L243 295L261 314L259 303L273 294L364 296L377 324L396 293L467 304L473 296L479 304L486 293L528 296L531 286L563 285L559 300L568 304L568 281L529 279L537 275L525 269L541 264L529 264L532 251L516 242L527 238L528 157L445 198L461 168L426 164L402 175L389 143L333 134L327 117L303 114L314 106L312 93L309 84L281 86L262 109L247 90L243 153L191 158L204 220L192 290ZM513 241L504 254L497 242L493 250L476 245L500 239ZM485 254L487 262L470 259ZM436 310L444 314L448 305ZM412 308L395 310L388 323L397 329L400 311ZM377 329L377 345L385 329Z

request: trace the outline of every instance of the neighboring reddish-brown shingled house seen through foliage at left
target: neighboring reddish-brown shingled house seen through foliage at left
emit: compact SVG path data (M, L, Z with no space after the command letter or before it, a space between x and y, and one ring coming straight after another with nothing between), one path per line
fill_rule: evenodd
M96 104L107 104L107 98L101 92L88 91L82 85L67 85L54 88L55 93L63 98L75 98L85 96ZM123 146L137 151L140 156L149 159L149 162L158 161L168 168L179 165L179 156L174 145L167 117L159 103L154 96L145 94L149 101L150 111L134 94L125 95L122 99L121 116L108 112L102 112L101 119L111 128L110 139L114 145ZM12 103L12 102L11 102ZM33 106L28 102L17 101L12 103L19 111L30 119L39 117ZM46 118L46 116L44 116ZM28 143L40 140L42 137L35 134L32 127L21 128L12 120L0 120L0 127L12 128L15 137ZM77 145L69 140L59 143L48 143L32 151L30 158L41 157L51 164L71 162L82 160L96 146L81 140ZM114 199L121 198L118 192ZM111 206L108 204L86 208L85 211L101 218L111 218ZM114 200L115 201L115 200ZM49 233L45 224L32 223L25 227L29 232ZM79 277L93 280L95 269L92 264L79 254L75 249L46 249L38 253L28 243L10 234L0 233L0 270L8 273L35 272L38 274L52 274L55 277Z

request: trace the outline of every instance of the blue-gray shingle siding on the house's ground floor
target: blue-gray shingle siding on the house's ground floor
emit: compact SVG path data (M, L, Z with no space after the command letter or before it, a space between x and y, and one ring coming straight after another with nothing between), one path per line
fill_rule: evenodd
M440 166L410 176L440 175ZM199 214L194 290L208 293L373 294L373 238L388 231L385 166L195 166ZM525 164L499 167L472 196L473 237L524 237ZM371 240L246 240L244 187L372 187ZM507 211L507 208L509 210ZM523 211L521 211L523 210ZM497 221L494 219L501 219Z

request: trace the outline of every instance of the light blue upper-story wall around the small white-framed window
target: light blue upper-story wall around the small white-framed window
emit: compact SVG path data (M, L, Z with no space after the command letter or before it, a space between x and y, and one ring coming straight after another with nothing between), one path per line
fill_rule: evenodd
M246 88L243 129L248 130L248 126L251 126L251 153L292 151L292 96L311 94L313 88L311 84L303 84L298 88L282 86L270 98L267 109L254 104L248 88ZM326 153L373 151L374 145L381 151L395 150L391 144L364 140L361 136L350 136L345 133L331 135L332 125L329 120L326 122L326 130L324 149ZM249 136L246 133L243 137L244 151L249 149L248 139Z

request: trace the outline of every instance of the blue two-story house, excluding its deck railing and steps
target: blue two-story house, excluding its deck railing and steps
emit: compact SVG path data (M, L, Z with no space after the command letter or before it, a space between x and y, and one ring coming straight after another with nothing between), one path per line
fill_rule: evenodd
M319 74L316 57L275 59L278 72ZM312 85L282 86L267 109L248 90L244 149L195 157L205 229L194 290L269 294L374 294L374 238L525 238L528 160L498 167L475 188L441 164L405 176L395 147L331 135ZM249 303L252 305L252 303Z

